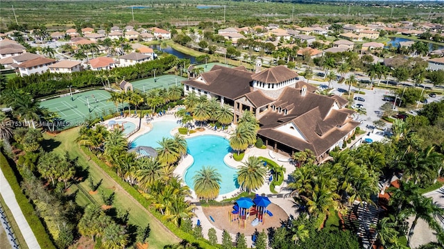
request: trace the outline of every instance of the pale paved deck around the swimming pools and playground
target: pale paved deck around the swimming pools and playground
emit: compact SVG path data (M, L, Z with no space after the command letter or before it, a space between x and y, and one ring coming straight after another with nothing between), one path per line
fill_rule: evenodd
M151 119L150 121L146 121L146 119L143 118L142 122L141 122L140 129L137 132L135 132L133 135L128 137L128 141L133 141L134 139L136 139L140 135L144 135L146 132L149 132L153 128L152 123L155 123L156 121L178 121L178 119L176 117L174 117L174 113L177 112L177 110L178 110L178 108L174 108L173 110L170 110L169 112L167 112L167 114L165 114L165 115L162 115L160 117L153 117L153 119ZM133 118L133 117L126 117L126 118L121 118L121 119L109 119L108 121L105 121L103 123L106 124L110 120L130 121L132 123L135 123L136 126L138 126L138 124L139 124L139 118ZM204 129L205 130L203 130L203 131L194 132L194 133L191 133L185 137L190 138L190 137L197 137L197 136L201 136L201 135L217 135L217 136L225 137L225 139L230 139L230 132L217 131L217 130L207 129L207 128L204 128ZM230 130L230 131L233 131L234 129L235 129L234 125L232 125L232 126L230 126L230 128L228 128L228 130ZM171 130L171 135L176 134L176 132L178 132L178 128ZM283 159L288 159L289 157L286 157L284 155L280 155L278 153L273 152L275 158L272 158L269 151L270 150L268 148L267 149L260 149L260 148L255 148L253 146L252 148L248 148L245 151L244 159L241 162L235 161L232 157L232 153L228 153L227 155L225 155L223 160L224 160L225 164L228 164L228 166L231 166L235 169L237 169L239 166L241 166L242 162L246 162L246 160L248 160L248 157L250 157L250 156L266 157L266 158L273 160L273 161L277 162L278 164L284 166L286 169L286 173L285 173L285 177L284 177L284 184L282 184L279 194L283 194L285 196L285 194L289 194L289 191L287 189L285 189L285 187L287 186L287 180L288 180L289 174L292 173L296 169L296 167L293 164L290 164L289 162L281 162L280 161ZM280 160L278 160L278 159L280 159ZM182 158L182 160L180 160L178 166L174 170L174 174L178 175L179 177L182 177L182 175L185 175L185 171L187 170L187 168L189 166L191 166L191 164L193 164L193 162L194 162L194 158L191 155L187 155L186 157ZM237 189L237 190L232 191L228 194L219 195L218 198L216 198L216 200L221 201L221 200L224 200L225 198L232 198L234 196L237 196L237 194L240 194L240 193L241 193L241 191L239 189ZM296 208L293 207L294 206L294 203L292 201L293 198L289 198L289 197L278 198L276 194L271 193L270 187L268 186L267 183L265 183L262 187L257 189L255 191L255 193L272 195L271 197L269 197L272 203L275 203L276 205L278 205L282 209L284 209L284 211L289 216L293 216L295 218L298 216L298 212L296 212ZM196 193L192 190L191 190L191 197L189 198L189 200L191 201L191 203L199 203L199 200L196 197ZM223 231L217 229L216 227L214 227L214 225L212 225L212 221L210 221L210 217L205 215L205 213L203 212L203 209L200 205L196 206L196 209L194 209L194 214L196 214L196 216L194 218L192 218L192 221L194 224L196 224L197 220L200 220L200 225L202 226L204 237L207 239L208 230L210 230L210 228L214 228L216 230L216 234L217 234L219 243L222 243L222 232ZM245 235L246 235L248 247L251 247L253 245L253 241L251 240L251 236L250 236L251 234L245 234ZM233 241L235 241L236 234L231 234L231 237L232 237Z

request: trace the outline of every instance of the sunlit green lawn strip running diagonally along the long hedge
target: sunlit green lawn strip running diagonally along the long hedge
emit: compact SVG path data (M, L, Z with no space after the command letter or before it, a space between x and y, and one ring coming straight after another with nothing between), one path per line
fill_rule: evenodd
M110 178L110 176L106 174L99 166L87 159L85 154L83 154L83 151L80 150L80 146L78 146L74 141L78 135L78 130L79 128L65 130L55 137L44 135L45 139L47 139L46 144L56 145L54 151L59 151L60 153L69 151L69 155L71 155L71 157L78 157L78 163L80 166L83 166L84 169L87 169L87 172L89 173L88 177L93 178L94 182L99 182L99 180L103 179L103 182L98 190L99 194L95 194L93 196L87 193L89 190L91 190L88 186L88 180L80 182L78 187L71 186L70 191L75 191L77 188L84 190L78 191L76 202L83 206L92 203L93 201L95 203L99 203L99 205L103 205L100 195L101 191L105 191L107 195L114 191L115 198L113 207L121 212L126 212L126 210L129 211L130 216L128 223L144 227L148 223L150 224L151 234L148 238L150 248L163 248L165 245L178 242L177 239L171 238L171 236L165 236L167 228L165 228L160 221L157 221L157 219L144 207L142 207L142 205L130 197L130 195L124 189L122 189L117 182L112 180L112 178Z

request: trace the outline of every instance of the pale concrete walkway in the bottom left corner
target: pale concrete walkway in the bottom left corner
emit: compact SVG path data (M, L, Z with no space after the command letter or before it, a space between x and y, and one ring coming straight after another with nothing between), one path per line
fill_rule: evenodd
M0 182L1 196L3 196L3 200L5 200L6 205L11 210L12 216L14 216L15 222L19 226L20 232L22 232L28 248L40 248L31 227L29 227L28 221L26 221L26 218L22 213L22 209L19 207L19 203L17 203L17 200L15 199L15 194L12 191L8 180L6 180L5 175L3 175L3 171L1 170Z

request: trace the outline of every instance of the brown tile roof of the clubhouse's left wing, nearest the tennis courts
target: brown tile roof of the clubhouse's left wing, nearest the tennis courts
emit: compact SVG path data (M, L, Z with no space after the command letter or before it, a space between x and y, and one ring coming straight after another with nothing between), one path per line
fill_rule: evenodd
M191 79L183 83L234 100L250 92L252 75L250 71L215 65L210 71L200 74L203 82Z

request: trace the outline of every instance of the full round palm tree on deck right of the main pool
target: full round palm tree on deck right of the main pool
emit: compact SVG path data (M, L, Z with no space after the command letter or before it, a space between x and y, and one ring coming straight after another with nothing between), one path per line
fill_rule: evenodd
M259 157L248 157L247 162L243 164L237 171L237 182L242 189L251 193L264 184L266 168Z

